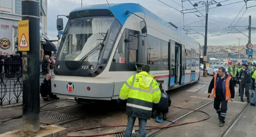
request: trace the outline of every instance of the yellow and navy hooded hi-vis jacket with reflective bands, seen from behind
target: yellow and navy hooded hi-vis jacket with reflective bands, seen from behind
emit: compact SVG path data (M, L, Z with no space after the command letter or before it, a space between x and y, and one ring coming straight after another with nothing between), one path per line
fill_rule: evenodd
M161 91L154 76L140 72L123 84L119 98L127 99L126 114L141 119L150 119L153 103L161 98Z

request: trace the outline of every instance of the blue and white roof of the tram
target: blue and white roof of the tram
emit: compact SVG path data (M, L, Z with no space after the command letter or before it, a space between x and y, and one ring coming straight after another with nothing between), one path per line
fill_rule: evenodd
M127 18L131 15L126 15L126 11L129 10L130 12L136 13L136 12L142 12L145 13L147 16L155 19L157 22L160 22L161 24L165 25L167 28L170 28L176 32L179 33L179 35L193 39L191 37L188 37L185 35L185 33L181 32L180 30L176 29L173 25L169 24L165 20L161 19L160 17L156 16L151 11L147 10L140 4L136 3L111 3L111 4L97 4L97 5L89 5L89 6L83 6L81 8L76 8L71 12L75 11L82 11L82 10L94 10L94 9L108 9L110 10L114 16L119 20L119 22L123 25ZM193 39L194 40L194 39Z

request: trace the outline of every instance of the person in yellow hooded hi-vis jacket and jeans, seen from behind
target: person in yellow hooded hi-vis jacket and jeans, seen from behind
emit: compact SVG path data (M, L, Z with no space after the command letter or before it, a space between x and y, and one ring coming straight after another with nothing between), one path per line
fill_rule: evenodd
M150 66L143 65L142 72L130 77L120 90L117 102L121 104L127 99L126 114L128 117L125 137L132 136L136 118L139 118L139 136L146 136L146 124L150 119L153 104L158 104L160 101L161 91L154 76L149 75L149 72Z

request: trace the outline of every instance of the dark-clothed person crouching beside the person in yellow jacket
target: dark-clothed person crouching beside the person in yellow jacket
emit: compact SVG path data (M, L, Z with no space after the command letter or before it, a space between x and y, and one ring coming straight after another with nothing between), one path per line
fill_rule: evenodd
M163 122L163 120L166 120L166 113L169 111L169 106L172 103L170 100L169 95L163 91L162 84L160 84L160 90L161 90L161 99L159 101L159 104L154 105L155 110L155 119L157 122Z

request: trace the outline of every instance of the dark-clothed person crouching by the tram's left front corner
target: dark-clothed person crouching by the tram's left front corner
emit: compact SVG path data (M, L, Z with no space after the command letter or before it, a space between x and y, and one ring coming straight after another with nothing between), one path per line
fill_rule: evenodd
M60 99L57 95L51 93L51 75L47 74L40 85L40 93L44 101L48 101L48 98L51 99Z

